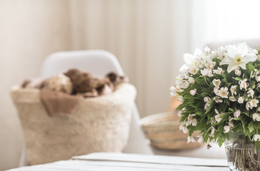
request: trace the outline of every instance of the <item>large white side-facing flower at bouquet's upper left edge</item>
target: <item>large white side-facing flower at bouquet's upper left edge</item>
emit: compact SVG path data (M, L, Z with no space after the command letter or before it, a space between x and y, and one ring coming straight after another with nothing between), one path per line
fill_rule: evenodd
M194 55L189 54L189 53L184 53L183 59L184 59L184 65L180 68L180 72L187 71L190 66L195 66L196 65L196 58L199 56L203 55L202 51L197 48L194 52Z

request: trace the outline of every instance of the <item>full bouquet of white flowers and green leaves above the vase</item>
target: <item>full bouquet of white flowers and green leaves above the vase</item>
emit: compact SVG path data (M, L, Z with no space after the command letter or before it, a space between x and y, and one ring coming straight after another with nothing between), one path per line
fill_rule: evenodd
M182 75L176 78L176 88L183 102L177 110L181 117L180 130L199 131L199 142L216 140L219 146L229 132L242 133L260 147L260 58L259 52L246 43L239 43L194 55L184 54Z

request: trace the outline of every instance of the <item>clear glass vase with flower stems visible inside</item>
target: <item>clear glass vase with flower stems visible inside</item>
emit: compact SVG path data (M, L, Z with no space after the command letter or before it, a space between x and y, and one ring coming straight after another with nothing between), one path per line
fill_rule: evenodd
M260 150L256 150L249 138L232 133L225 140L225 149L230 170L260 171Z

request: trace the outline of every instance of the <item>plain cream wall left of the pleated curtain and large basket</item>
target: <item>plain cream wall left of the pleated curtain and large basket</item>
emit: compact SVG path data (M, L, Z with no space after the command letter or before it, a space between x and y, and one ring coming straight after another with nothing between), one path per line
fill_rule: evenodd
M54 51L68 50L68 4L64 0L0 0L0 170L17 167L22 132L11 86L38 76Z

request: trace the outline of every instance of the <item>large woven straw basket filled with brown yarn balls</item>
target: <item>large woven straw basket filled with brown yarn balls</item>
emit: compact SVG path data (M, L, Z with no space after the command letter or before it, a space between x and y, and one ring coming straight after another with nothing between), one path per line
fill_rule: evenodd
M50 117L38 89L12 88L11 98L24 131L27 165L90 152L121 152L128 142L135 96L134 86L121 83L113 93L81 99L71 115Z

